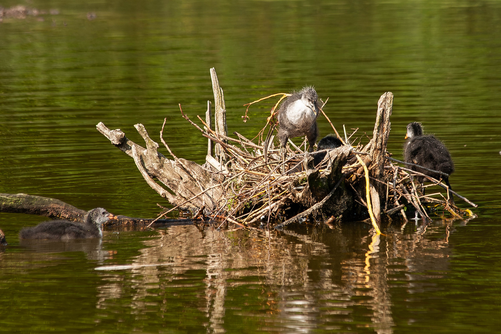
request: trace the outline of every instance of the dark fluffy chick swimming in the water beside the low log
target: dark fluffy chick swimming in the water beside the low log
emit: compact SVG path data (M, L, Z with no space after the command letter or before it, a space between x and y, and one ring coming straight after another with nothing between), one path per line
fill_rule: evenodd
M87 239L103 236L102 225L116 216L103 208L90 210L85 223L80 224L69 220L50 220L28 227L19 233L21 239Z

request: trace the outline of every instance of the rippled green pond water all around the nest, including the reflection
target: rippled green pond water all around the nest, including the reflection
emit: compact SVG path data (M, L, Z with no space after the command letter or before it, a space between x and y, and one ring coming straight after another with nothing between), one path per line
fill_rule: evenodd
M228 128L246 136L272 102L251 108L247 123L243 104L305 85L329 98L324 111L338 130L370 135L377 100L393 92L389 151L401 157L406 124L422 122L451 152L454 190L479 207L475 219L394 224L379 238L364 223L286 232L160 226L73 243L20 243L19 230L44 218L0 213L9 241L0 249L0 330L499 330L501 3L29 6L59 14L0 24L0 192L154 217L166 203L95 126L141 143L134 124L159 141L167 118L174 153L201 163L206 139L178 104L192 119L203 115L215 67ZM325 119L319 128L330 132Z

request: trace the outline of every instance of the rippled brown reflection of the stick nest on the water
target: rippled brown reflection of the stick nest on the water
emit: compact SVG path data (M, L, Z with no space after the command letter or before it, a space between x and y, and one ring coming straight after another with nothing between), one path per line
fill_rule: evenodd
M256 330L391 333L391 286L413 293L446 274L451 228L443 220L391 226L376 236L360 224L296 232L205 228L203 234L194 226L171 227L144 241L132 263L97 267L103 283L97 308L106 312L127 299L131 312L146 320L145 331L152 312L175 317L168 305L180 298L184 312L208 332L230 331L250 316ZM182 295L190 291L194 299Z

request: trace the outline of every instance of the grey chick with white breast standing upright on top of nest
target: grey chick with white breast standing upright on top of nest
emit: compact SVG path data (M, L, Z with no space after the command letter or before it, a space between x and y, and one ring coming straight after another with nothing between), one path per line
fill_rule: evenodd
M317 92L313 87L304 87L289 96L279 109L279 139L282 157L285 159L289 138L305 136L310 144L310 152L317 141L317 117L320 110Z

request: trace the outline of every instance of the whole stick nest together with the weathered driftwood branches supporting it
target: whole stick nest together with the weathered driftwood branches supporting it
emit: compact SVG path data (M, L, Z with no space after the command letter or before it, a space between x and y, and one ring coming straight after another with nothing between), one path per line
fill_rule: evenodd
M193 122L181 109L182 117L208 138L203 165L178 158L172 153L163 140L165 121L160 140L172 159L157 151L159 145L148 136L141 124L136 124L135 128L144 139L146 148L128 140L119 129L111 130L103 123L97 125L97 129L113 145L134 159L146 182L174 206L164 214L174 209L187 210L196 213L197 217L222 219L223 222L270 224L272 221L279 223L279 227L307 218L333 221L341 218L360 220L370 216L377 232L383 214L386 217L401 215L406 219L404 206L416 210L424 220L429 219L427 212L430 207L427 203L439 204L453 216L471 214L453 205L440 193L433 194L435 198L432 195L423 196L420 186L413 181L413 176L422 174L393 163L396 160L386 150L391 128L392 93L383 94L378 101L373 137L367 145L346 143L346 136L343 141L332 126L345 145L328 151L321 166L315 168L312 154L302 150L302 145L292 144L294 149L288 149L286 160L279 158L273 142L279 103L268 119L270 129L266 140L258 136L255 143L236 132L233 133L236 138L229 137L222 89L214 69L210 69L210 75L214 93L214 122L210 101L207 101L205 122L197 116L202 126ZM273 96L276 95L286 94ZM212 124L215 125L214 130ZM266 133L265 129L260 134ZM426 178L432 185L446 188L441 180Z

